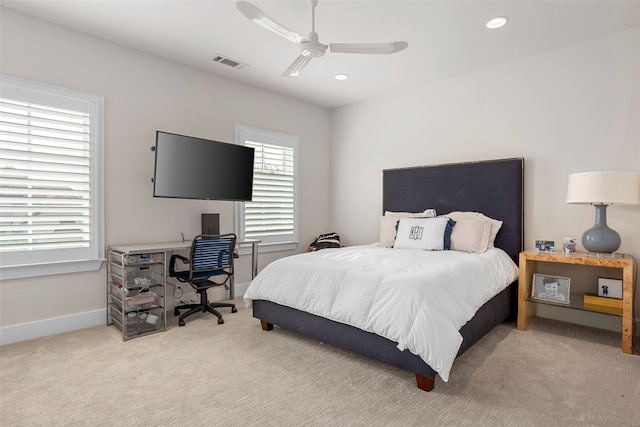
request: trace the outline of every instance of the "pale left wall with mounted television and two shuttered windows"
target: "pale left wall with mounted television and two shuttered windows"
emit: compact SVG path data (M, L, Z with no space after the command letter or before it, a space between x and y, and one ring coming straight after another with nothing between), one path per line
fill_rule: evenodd
M156 130L233 142L235 123L299 136L299 250L328 229L328 110L12 10L2 9L0 24L0 72L105 97L107 245L193 237L203 212L220 213L221 230L233 231L232 202L154 199L150 148ZM261 255L259 265L291 253ZM250 281L250 255L237 272L237 286ZM30 322L45 333L104 324L106 270L7 280L0 296L5 332Z

